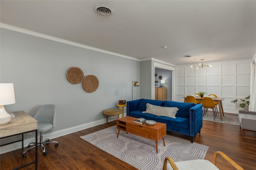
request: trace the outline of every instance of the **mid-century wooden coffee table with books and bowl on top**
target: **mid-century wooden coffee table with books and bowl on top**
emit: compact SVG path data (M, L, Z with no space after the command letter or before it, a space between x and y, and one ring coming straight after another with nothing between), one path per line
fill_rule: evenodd
M163 139L164 142L164 137L166 136L166 124L159 122L156 122L156 124L154 125L147 125L146 123L134 123L133 121L136 119L136 117L130 116L116 119L116 129L118 129L118 134L116 138L118 138L119 132L121 130L127 133L132 133L134 135L156 141L156 153L158 153L157 142L160 141L160 139Z

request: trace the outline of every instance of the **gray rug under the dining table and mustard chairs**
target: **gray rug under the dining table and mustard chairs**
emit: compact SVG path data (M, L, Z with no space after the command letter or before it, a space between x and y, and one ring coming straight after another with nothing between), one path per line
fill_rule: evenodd
M214 121L212 112L206 113L206 115L203 116L203 120ZM215 118L214 122L237 125L237 126L240 125L238 121L238 116L225 115L225 113L224 113L224 116L222 116L222 120L220 119L220 113L217 114L217 117Z

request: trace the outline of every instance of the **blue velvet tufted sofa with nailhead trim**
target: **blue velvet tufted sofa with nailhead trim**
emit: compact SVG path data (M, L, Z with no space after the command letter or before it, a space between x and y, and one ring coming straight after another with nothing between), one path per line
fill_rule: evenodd
M175 115L175 119L172 117L142 113L142 111L146 111L147 103L155 106L178 107L179 110ZM203 125L202 105L194 103L150 99L132 100L126 102L126 115L136 118L142 117L147 120L166 123L166 129L168 131L188 135L190 137L191 143L193 143L194 137L197 135L197 133L200 133Z

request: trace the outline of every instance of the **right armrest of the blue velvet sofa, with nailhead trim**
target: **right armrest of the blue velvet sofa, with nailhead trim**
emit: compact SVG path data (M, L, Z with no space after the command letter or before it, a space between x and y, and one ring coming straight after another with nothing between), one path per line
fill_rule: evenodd
M189 123L190 123L190 135L196 136L196 134L203 127L203 106L197 104L189 109Z

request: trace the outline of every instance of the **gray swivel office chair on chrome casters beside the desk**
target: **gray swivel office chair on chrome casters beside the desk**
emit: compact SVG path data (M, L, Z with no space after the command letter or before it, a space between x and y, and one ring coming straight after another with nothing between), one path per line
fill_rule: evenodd
M57 141L50 141L50 139L45 139L43 141L42 133L48 131L56 126L56 108L53 104L46 104L39 106L36 114L34 115L34 119L38 121L38 132L40 132L40 143L37 145L41 146L43 150L43 154L46 155L44 144L46 143L56 143L55 147L58 147L59 143ZM31 146L32 145L32 146ZM30 143L27 149L23 152L23 157L27 156L26 152L32 148L36 147L36 143Z

